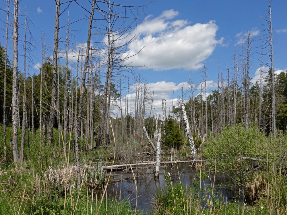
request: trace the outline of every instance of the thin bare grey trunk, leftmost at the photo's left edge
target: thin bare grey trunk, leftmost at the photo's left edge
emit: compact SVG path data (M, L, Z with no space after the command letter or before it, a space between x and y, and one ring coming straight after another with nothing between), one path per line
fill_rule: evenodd
M7 44L8 44L8 26L9 26L9 6L10 0L7 5L7 22L6 22L6 40L5 40L5 66L4 66L4 98L3 98L3 149L4 149L4 160L5 165L7 164L6 155L6 76L7 76Z

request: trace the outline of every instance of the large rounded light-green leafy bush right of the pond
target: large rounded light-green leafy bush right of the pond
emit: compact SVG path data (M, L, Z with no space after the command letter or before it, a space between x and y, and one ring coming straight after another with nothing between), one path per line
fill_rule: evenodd
M266 137L253 126L245 130L242 124L225 127L222 133L211 136L203 145L203 157L209 159L211 167L218 172L233 170L239 175L253 168L249 158L276 157L279 152L279 140Z

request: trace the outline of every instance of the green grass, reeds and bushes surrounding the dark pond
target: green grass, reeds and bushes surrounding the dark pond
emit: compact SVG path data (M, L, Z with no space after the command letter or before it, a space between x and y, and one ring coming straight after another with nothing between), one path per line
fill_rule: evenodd
M10 130L8 127L8 138ZM39 132L36 131L34 134L36 141L39 139L38 135ZM73 134L71 138L72 136ZM57 138L55 142L56 140ZM204 161L191 163L190 168L196 170L196 176L189 186L179 181L175 183L171 180L169 172L163 173L166 185L165 188L159 188L152 194L151 214L286 214L287 174L286 157L284 157L287 153L286 144L285 134L273 138L258 132L256 127L246 132L241 124L224 128L222 133L210 138L202 146L199 157ZM30 150L28 148L25 150L27 157L25 165L19 165L17 169L13 166L11 157L10 165L6 167L1 165L2 213L143 214L140 210L135 211L135 206L131 205L129 198L108 196L105 193L107 183L115 183L109 180L112 169L104 168L105 165L113 165L113 156L110 156L114 154L113 146L99 147L81 153L80 189L77 189L77 170L73 162L73 153L69 154L69 159L67 158L71 162L67 166L63 150L58 144L52 147L43 146L42 150L38 147L38 144L30 142ZM128 163L131 161L143 163L143 159L147 156L150 160L156 157L147 142L138 143L136 146L121 144L118 147L120 154L126 153L133 157L128 161L125 157L118 157L114 162L115 166L125 163L119 173L133 170L138 174L127 180L137 181L137 177L145 174L141 173L140 166L129 166ZM168 148L166 146L162 148L166 153L161 155L163 163L160 168L164 168L164 162L167 162L165 165L171 165ZM150 155L139 153L146 152L147 149L150 150ZM73 146L70 146L69 150L72 151ZM187 160L190 157L189 150L188 143L179 150L173 148L174 161ZM11 149L8 148L7 152L10 154ZM177 169L178 165L180 164L174 163L172 166ZM212 175L210 175L210 186L206 187L201 184L201 180L208 177L208 172ZM214 176L225 172L232 173L235 177L232 183L222 186L228 187L230 192L237 193L239 199L224 200L216 191ZM178 175L180 174L178 172Z

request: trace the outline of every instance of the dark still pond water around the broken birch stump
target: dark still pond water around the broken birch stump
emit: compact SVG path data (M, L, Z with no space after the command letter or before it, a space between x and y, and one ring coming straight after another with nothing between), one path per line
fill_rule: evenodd
M134 167L133 172L135 174L135 179L137 182L137 210L142 210L143 214L150 214L153 210L152 198L157 189L164 189L166 186L166 180L164 173L171 173L172 184L176 185L180 181L183 187L193 187L192 182L194 178L199 175L199 170L191 168L191 163L182 163L178 165L161 165L159 178L154 178L154 168L153 167ZM214 174L205 171L204 179L201 179L201 187L210 187L213 184ZM109 174L109 173L108 173ZM234 177L234 176L233 176ZM197 178L199 180L199 178ZM135 181L131 170L129 171L114 171L110 178L111 183L107 187L107 194L110 197L117 198L129 198L131 205L135 207L136 204L136 189ZM229 189L222 185L226 183L232 184L234 180L232 176L228 175L216 175L215 177L215 191L220 193L222 196L222 201L230 202L235 198L235 194ZM202 193L203 194L203 193ZM226 195L227 194L227 195ZM211 195L211 193L208 193ZM227 197L226 197L227 196ZM204 203L203 203L204 204Z

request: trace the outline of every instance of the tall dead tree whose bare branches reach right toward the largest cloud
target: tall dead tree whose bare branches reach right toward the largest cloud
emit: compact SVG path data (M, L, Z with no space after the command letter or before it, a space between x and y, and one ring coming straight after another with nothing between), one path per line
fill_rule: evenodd
M104 144L108 144L109 142L108 118L110 116L111 96L113 96L111 94L113 90L112 80L123 71L131 71L126 61L133 55L127 52L127 46L137 37L137 35L131 35L129 32L133 21L137 20L137 17L128 17L122 14L125 14L126 9L132 10L133 8L142 7L118 5L110 3L110 1L101 1L101 3L106 4L108 9L105 11L104 9L98 8L107 24L106 26L103 25L102 28L96 28L99 33L95 33L105 36L101 56L104 58L103 62L106 62L106 79L104 93L101 99L102 103L100 104L102 114L100 114L99 119L97 146L100 146L102 137ZM124 9L124 11L121 11L121 9ZM126 25L127 20L132 21Z

